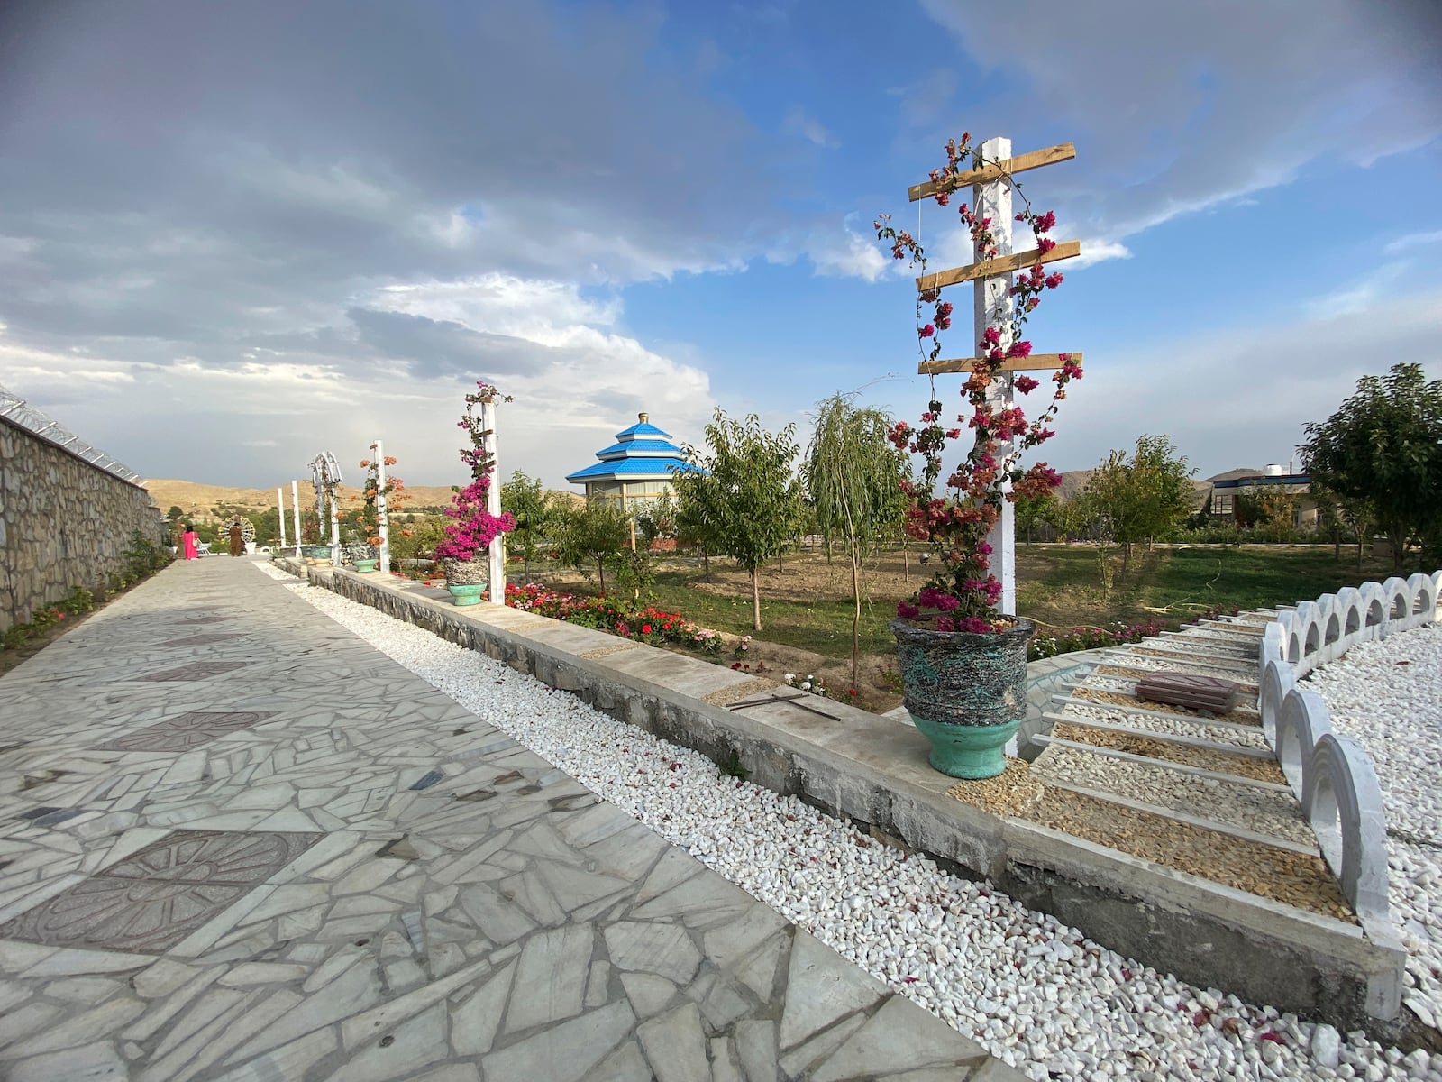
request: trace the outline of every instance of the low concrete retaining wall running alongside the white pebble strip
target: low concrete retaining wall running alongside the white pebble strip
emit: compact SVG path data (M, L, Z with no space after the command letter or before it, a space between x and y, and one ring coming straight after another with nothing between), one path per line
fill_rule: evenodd
M278 563L718 763L740 762L750 783L989 879L1144 964L1343 1029L1366 1026L1377 1039L1422 1039L1407 1029L1410 1014L1399 1014L1396 944L955 801L952 779L927 766L927 742L911 726L832 700L815 700L825 717L790 703L727 710L715 703L757 694L744 695L754 681L725 667L649 646L617 652L614 636L515 609L456 609L440 590Z

